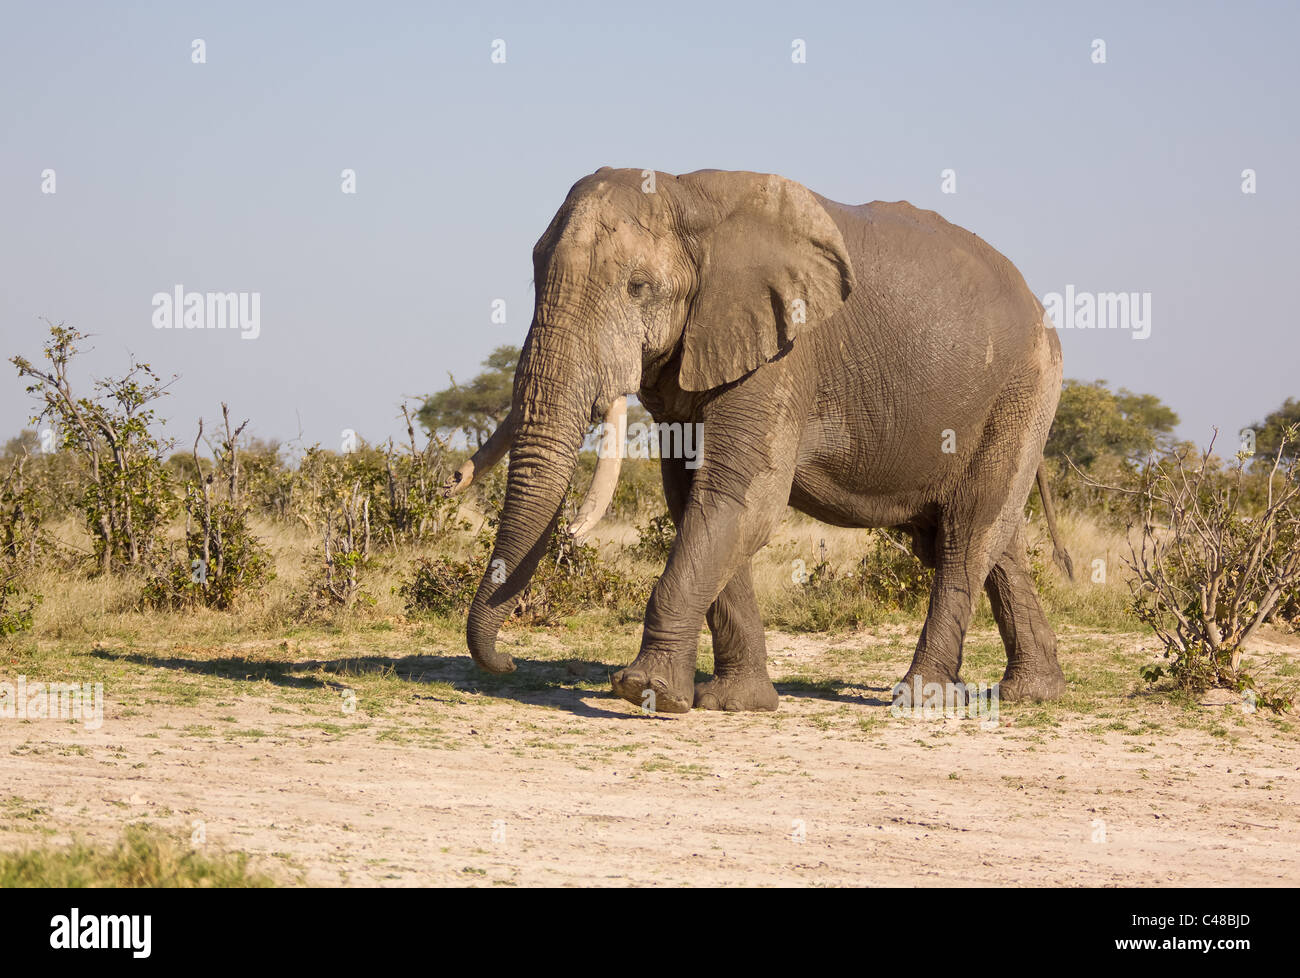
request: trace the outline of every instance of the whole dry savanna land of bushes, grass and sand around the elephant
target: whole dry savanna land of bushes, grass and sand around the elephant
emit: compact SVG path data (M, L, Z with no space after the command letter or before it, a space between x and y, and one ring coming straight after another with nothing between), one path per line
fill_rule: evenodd
M516 351L395 406L400 441L322 447L233 402L164 425L182 381L91 384L84 342L51 326L13 359L34 417L0 460L0 681L101 684L103 722L0 719L0 884L1300 880L1300 402L1197 449L1158 399L1067 381L1072 580L1026 512L1062 700L893 715L928 572L792 511L755 563L780 710L671 719L608 691L673 538L653 459L578 545L584 453L503 633L519 671L464 650L503 472L442 485ZM1004 663L985 600L965 679Z

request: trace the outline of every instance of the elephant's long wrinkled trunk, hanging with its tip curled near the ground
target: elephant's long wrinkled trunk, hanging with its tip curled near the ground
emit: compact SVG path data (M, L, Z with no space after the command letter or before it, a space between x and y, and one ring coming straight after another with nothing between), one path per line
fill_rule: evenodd
M515 668L510 654L497 650L497 632L546 553L595 399L590 371L554 349L540 351L533 342L536 333L520 358L515 390L519 427L497 542L465 627L469 654L489 672Z

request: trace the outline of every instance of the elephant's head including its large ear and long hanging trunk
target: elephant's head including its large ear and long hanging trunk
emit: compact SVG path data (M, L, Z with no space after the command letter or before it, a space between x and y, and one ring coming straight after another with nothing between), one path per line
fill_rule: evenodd
M467 628L474 662L493 672L515 668L497 632L546 550L588 425L647 372L671 369L690 391L740 380L853 289L840 230L811 192L724 170L582 178L533 248L533 277L502 440L512 437L506 502ZM486 451L486 463L503 450ZM598 472L595 519L612 489Z

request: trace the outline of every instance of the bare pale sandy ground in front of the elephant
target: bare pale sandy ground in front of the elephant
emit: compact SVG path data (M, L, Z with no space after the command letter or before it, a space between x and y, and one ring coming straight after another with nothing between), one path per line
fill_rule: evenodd
M779 687L837 641L771 635ZM460 692L465 659L411 657L381 718L322 720L329 684L230 683L110 698L98 731L6 722L0 845L202 823L309 884L1300 883L1291 735L894 718L884 684L660 718L580 688L603 667L559 667L572 687Z

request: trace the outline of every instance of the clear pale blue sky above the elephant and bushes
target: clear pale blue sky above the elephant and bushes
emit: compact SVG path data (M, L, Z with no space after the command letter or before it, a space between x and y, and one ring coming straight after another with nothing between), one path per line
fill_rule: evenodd
M182 440L222 399L256 434L378 440L400 395L523 339L575 179L753 169L935 208L1040 297L1150 293L1145 341L1062 330L1066 376L1156 393L1202 441L1300 397L1300 14L1138 8L6 0L3 354L65 320L98 334L87 372L133 351L181 375ZM155 330L177 284L261 293L261 336ZM9 437L30 401L4 373Z

